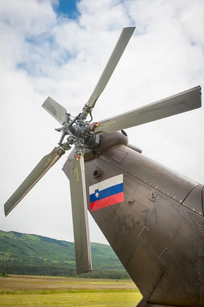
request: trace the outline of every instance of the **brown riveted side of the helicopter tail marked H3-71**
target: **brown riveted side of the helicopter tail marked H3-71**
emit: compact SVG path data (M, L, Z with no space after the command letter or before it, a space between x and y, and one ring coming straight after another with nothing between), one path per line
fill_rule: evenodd
M177 306L199 306L199 299L200 306L204 306L203 217L170 198L170 195L164 194L152 184L131 175L125 162L126 158L122 161L124 170L121 166L111 164L110 158L114 152L116 153L110 150L104 153L103 158L106 157L108 162L106 159L97 158L92 160L92 163L103 170L101 180L123 173L125 201L91 212L95 221L142 294L150 291L147 294L149 295L147 306L161 307L162 304L170 306L173 296L175 298L179 296ZM133 152L137 160L137 152ZM128 161L131 160L130 156L128 152ZM85 167L88 168L88 165L89 162ZM88 198L88 186L94 184L95 180L91 173L86 172ZM149 176L154 177L151 169ZM184 186L186 189L188 184L184 183ZM178 190L181 189L183 185L178 184ZM156 193L154 201L150 199L151 191ZM132 205L127 203L130 196L134 199ZM148 229L148 234L140 240L139 234L143 229ZM163 260L161 264L160 260ZM157 288L157 283L155 289L151 288L153 282L152 277L149 277L151 275L156 276L158 280L162 279L160 288ZM166 281L168 287L165 287ZM168 294L163 301L161 293L164 293L165 297L168 293L171 295ZM151 300L153 295L155 299Z

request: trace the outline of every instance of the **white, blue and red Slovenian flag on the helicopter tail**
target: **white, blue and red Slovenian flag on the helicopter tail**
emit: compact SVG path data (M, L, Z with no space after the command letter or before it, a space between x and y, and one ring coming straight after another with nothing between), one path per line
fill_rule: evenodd
M89 187L90 211L124 202L123 174Z

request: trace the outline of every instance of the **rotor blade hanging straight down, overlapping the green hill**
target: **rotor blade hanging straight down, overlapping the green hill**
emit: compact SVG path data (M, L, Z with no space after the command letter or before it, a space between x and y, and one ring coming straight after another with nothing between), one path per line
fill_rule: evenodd
M70 189L72 199L76 270L77 274L82 274L92 270L84 159L82 156L79 157L79 160L76 158L72 159Z

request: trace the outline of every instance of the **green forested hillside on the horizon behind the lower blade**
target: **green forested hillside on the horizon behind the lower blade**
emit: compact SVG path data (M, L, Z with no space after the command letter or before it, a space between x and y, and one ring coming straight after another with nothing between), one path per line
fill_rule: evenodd
M93 271L83 277L128 278L108 245L91 243ZM74 243L0 230L0 273L76 276ZM82 277L80 275L80 277Z

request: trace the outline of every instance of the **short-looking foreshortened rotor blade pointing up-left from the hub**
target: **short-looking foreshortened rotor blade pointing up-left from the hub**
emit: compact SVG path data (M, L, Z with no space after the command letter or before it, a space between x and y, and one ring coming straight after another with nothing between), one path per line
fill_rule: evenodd
M65 122L66 109L57 101L48 97L42 104L42 107L48 111L61 125Z

